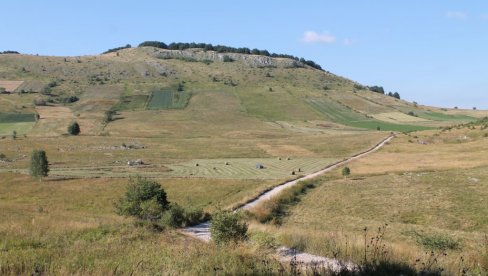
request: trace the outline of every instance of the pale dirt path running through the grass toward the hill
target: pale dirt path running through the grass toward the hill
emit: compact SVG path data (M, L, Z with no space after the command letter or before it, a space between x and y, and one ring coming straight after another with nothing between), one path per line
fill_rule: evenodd
M269 200L272 197L278 195L284 189L289 188L293 185L296 185L300 181L315 178L321 174L324 174L326 172L330 172L330 171L332 171L332 170L334 170L340 166L343 166L343 165L345 165L345 164L347 164L353 160L359 159L359 158L361 158L367 154L375 152L375 151L379 150L380 148L382 148L386 143L391 141L394 137L395 137L395 135L391 134L388 137L386 137L385 139L381 140L381 142L379 142L378 144L376 144L375 146L373 146L372 148L370 148L366 151L357 153L357 154L355 154L355 155L353 155L347 159L344 159L342 161L328 165L327 167L321 169L320 171L302 176L302 177L297 178L295 180L290 180L288 182L284 182L282 184L279 184L279 185L275 186L274 188L272 188L271 190L263 192L261 195L257 196L256 198L252 199L251 201L247 202L246 204L242 205L241 207L237 208L236 210L240 210L240 209L249 210L249 209L253 208L254 206L258 205L259 203L262 203L262 202ZM197 239L205 241L205 242L209 242L211 240L210 221L206 221L206 222L203 222L203 223L195 225L195 226L187 227L183 230L183 232L186 235L192 236L194 238L197 238ZM294 259L296 262L299 262L299 263L302 263L305 265L306 264L312 264L312 263L313 264L322 264L322 265L328 266L329 268L332 268L334 270L340 269L344 266L349 267L349 268L354 267L354 265L350 264L350 263L344 264L344 263L341 263L335 259L325 258L322 256L314 256L314 255L310 255L307 253L298 252L294 249L290 249L290 248L286 248L286 247L279 248L278 254L281 257L280 260L284 261L284 262L289 262L290 260Z

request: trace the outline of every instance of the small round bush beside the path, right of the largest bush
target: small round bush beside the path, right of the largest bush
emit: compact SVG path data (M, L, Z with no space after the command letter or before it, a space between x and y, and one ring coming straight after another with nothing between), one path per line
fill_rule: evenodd
M213 215L210 233L216 244L239 242L247 238L247 224L238 213L219 211Z

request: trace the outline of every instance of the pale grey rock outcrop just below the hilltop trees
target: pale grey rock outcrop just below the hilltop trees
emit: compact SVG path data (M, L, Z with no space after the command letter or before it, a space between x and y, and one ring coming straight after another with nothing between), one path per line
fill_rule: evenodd
M155 49L153 55L161 59L187 59L193 61L224 61L224 57L230 57L234 61L240 61L251 67L282 67L296 68L305 65L299 61L287 58L273 58L260 55L246 55L238 53L217 53L215 51L204 51L202 49L187 50L164 50Z

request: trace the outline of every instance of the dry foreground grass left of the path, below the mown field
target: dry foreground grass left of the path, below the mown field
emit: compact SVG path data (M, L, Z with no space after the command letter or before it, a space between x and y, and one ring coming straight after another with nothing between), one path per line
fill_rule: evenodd
M260 273L276 263L251 246L214 247L114 213L126 180L32 180L1 174L0 274ZM170 201L212 210L253 181L161 181ZM259 190L262 187L259 188ZM233 196L236 194L236 196ZM196 195L192 197L191 195ZM263 260L266 262L263 263Z

